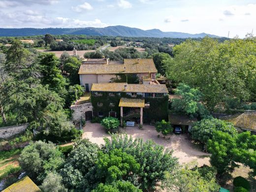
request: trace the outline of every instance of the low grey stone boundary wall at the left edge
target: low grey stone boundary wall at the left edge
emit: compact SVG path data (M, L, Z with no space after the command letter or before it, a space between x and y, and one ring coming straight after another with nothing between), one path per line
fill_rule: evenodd
M0 128L0 139L8 139L13 135L19 134L26 130L29 124L22 124L18 126L8 126Z

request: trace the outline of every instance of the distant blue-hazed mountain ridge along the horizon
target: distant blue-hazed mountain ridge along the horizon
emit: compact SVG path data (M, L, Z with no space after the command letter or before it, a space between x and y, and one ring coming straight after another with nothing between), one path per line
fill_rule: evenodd
M105 28L21 28L4 29L0 28L0 36L31 36L44 35L46 33L61 34L85 34L85 35L106 35L106 36L128 36L128 37L171 37L171 38L198 38L198 37L219 37L217 35L199 33L190 34L184 32L162 32L158 29L141 30L125 26L110 26Z

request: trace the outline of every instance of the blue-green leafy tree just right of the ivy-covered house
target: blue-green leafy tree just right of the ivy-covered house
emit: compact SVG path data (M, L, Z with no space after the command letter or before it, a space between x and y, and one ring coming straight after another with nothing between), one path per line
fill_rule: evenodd
M172 99L171 108L175 112L186 114L190 117L200 116L201 118L209 115L209 112L199 102L202 97L199 90L180 83L175 94L181 96L181 98Z

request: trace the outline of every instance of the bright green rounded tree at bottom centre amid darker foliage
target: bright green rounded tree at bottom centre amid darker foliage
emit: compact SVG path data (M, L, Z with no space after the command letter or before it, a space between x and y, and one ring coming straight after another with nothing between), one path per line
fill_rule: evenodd
M121 149L114 149L108 154L98 153L96 161L96 174L104 183L110 184L118 180L127 180L140 169L140 164L134 157L122 152Z

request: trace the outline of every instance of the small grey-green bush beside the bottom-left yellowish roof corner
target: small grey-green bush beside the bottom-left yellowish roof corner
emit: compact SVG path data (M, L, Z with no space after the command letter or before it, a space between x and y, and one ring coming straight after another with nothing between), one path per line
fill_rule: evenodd
M47 174L40 189L43 192L67 192L67 189L62 184L62 176L52 172Z

